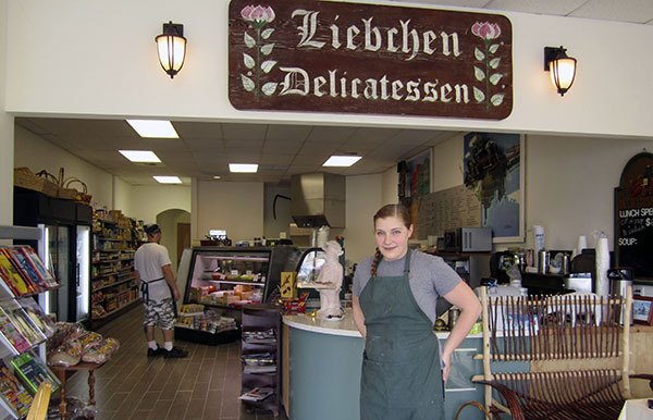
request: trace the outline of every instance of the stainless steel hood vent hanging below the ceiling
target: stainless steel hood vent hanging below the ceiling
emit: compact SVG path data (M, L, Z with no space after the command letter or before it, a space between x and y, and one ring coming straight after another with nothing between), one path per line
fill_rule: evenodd
M345 177L310 173L291 177L291 215L299 227L345 227Z

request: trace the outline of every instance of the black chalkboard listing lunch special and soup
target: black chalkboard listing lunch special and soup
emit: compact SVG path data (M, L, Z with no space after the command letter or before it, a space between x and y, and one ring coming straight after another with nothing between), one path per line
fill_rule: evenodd
M632 157L615 188L615 256L636 279L653 280L653 155Z

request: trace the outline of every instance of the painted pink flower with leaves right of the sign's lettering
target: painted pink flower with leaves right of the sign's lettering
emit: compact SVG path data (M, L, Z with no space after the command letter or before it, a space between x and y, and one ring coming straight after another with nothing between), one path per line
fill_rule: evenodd
M497 87L498 82L504 74L496 71L501 64L501 57L495 57L496 51L502 46L497 38L501 36L501 26L491 22L476 22L471 25L471 33L483 40L483 48L475 47L473 57L473 76L484 83L483 88L473 87L473 98L477 102L484 102L486 109L498 107L505 97L503 92L492 95L492 90ZM500 87L501 88L501 87Z

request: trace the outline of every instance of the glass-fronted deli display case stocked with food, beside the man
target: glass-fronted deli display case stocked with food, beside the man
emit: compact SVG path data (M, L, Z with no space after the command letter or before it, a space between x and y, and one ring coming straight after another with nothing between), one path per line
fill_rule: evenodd
M292 246L196 247L180 263L177 281L186 283L184 305L202 305L204 313L235 320L241 325L242 309L267 302L278 293L281 272L293 271L298 251ZM186 259L186 260L185 260ZM202 324L193 321L195 324ZM206 323L205 323L206 324ZM175 326L175 337L202 344L233 342L239 333L197 331ZM199 330L202 330L201 328Z

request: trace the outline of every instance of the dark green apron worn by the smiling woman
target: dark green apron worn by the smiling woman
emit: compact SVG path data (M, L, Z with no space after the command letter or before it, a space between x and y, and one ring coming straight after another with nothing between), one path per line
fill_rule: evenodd
M371 277L359 301L367 337L360 379L361 420L444 419L440 345L403 275Z

